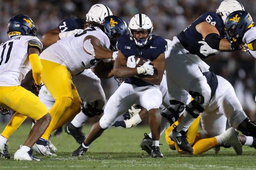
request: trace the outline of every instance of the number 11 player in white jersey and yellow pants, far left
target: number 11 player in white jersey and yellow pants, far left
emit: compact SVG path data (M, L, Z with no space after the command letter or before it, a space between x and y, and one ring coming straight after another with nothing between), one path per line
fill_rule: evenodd
M40 160L33 157L30 148L48 127L51 115L39 98L21 87L20 84L28 71L32 69L34 78L32 87L37 91L40 89L43 67L38 55L43 46L36 37L37 31L34 22L26 15L12 17L7 25L7 33L10 39L0 46L2 53L0 61L0 105L16 112L4 132L1 133L0 156L10 159L6 146L7 139L11 135L8 127L13 126L12 122L17 123L16 118L25 120L28 116L37 122L31 129L28 139L15 152L14 159ZM23 121L18 122L21 124ZM14 130L17 128L18 126Z

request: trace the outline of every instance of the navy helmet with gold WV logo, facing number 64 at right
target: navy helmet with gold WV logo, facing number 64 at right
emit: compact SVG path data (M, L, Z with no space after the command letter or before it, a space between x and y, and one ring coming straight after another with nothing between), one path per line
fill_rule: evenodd
M252 17L246 11L234 11L228 15L225 21L225 32L228 36L228 41L241 44L244 33L249 30L255 23Z

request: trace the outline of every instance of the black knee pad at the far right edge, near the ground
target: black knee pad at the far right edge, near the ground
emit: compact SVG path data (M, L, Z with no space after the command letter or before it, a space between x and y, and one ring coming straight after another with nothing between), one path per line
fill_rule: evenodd
M248 117L238 125L237 130L241 131L245 136L256 137L256 124L251 122Z

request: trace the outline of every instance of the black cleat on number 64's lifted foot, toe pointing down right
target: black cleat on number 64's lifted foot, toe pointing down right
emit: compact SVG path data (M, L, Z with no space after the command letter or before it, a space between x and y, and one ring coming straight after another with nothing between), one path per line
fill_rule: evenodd
M181 150L186 151L186 152L194 152L194 149L190 146L187 140L187 132L181 130L180 132L176 131L175 127L172 132L169 134L169 137L171 138L172 141L174 141L178 146L180 147Z

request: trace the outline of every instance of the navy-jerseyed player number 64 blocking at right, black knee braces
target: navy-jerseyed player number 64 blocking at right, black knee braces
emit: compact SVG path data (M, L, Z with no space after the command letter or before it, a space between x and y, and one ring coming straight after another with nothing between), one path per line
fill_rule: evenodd
M175 114L181 105L185 105L186 109L180 124L172 130L170 137L186 152L194 152L186 139L186 131L199 114L204 112L211 98L211 88L203 75L209 71L209 66L203 60L214 53L202 54L201 41L219 51L242 49L240 44L224 38L223 23L228 14L237 10L244 10L242 4L236 0L225 0L217 12L204 13L178 36L173 37L170 55L165 60L170 99L176 101L171 105L170 112ZM194 100L188 102L190 95Z

